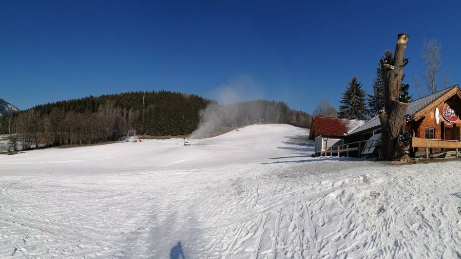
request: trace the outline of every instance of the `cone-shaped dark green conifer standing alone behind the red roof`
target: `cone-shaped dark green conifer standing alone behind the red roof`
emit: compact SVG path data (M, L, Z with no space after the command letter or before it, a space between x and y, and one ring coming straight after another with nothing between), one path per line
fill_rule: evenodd
M338 117L366 120L368 110L365 103L366 92L362 89L362 83L357 80L357 77L353 76L348 84L349 87L346 92L343 92Z

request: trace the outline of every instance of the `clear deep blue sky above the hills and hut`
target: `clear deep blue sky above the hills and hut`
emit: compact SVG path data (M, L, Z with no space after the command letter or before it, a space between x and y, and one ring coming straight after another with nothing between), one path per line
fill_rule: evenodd
M0 98L27 109L169 90L339 105L354 75L371 93L380 55L409 35L406 82L423 84L423 38L461 82L459 1L0 1ZM417 97L417 92L414 97ZM225 97L224 97L225 98Z

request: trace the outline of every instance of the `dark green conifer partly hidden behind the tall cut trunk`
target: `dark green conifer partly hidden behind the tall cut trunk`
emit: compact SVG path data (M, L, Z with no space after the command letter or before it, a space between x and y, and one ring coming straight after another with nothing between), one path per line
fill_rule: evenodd
M384 55L381 56L380 62L392 59L392 51L385 50ZM380 64L378 62L378 64ZM378 114L378 111L384 108L384 82L381 74L381 67L376 69L376 78L373 81L373 94L368 95L368 112L370 117Z

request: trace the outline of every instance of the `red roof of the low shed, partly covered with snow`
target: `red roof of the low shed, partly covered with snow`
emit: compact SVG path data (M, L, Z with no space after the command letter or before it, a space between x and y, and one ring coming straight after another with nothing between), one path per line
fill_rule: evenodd
M314 139L318 135L344 137L364 124L363 120L312 116L309 138Z

